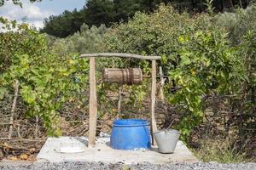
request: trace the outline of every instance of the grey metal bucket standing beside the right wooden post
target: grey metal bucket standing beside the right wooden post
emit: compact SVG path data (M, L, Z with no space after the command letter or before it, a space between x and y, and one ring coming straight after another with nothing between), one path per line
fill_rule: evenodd
M154 133L154 139L158 145L160 153L173 153L177 144L180 133L177 130L161 130Z

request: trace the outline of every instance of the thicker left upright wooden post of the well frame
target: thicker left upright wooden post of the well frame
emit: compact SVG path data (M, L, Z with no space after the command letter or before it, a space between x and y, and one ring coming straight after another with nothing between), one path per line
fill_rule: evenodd
M97 120L97 100L96 100L96 69L95 69L95 57L90 58L90 103L89 103L89 139L88 146L94 147L96 140L96 120Z

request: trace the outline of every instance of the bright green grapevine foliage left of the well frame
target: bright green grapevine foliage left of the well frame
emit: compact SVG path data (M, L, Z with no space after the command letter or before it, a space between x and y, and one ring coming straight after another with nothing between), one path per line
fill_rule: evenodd
M0 33L3 61L0 74L0 99L13 94L19 82L20 95L26 103L27 116L40 116L49 135L60 135L58 111L73 90L78 90L85 75L74 73L88 70L87 62L68 55L58 56L48 49L47 38L24 24L1 18L3 26L16 31ZM7 62L8 61L8 62Z

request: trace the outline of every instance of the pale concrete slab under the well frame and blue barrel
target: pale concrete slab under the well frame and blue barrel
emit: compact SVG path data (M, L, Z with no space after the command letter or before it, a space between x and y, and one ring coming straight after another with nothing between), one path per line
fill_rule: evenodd
M102 161L125 164L199 162L182 141L177 142L173 154L160 154L157 148L152 150L113 150L109 146L109 141L109 138L98 138L96 147L88 148L87 139L83 137L49 138L38 153L37 160L39 162Z

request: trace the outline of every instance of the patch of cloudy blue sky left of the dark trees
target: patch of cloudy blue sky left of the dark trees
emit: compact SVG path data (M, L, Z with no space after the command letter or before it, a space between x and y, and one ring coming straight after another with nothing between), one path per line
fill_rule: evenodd
M3 7L0 7L0 16L9 20L26 22L37 28L44 26L44 19L50 15L61 14L64 10L78 10L83 8L85 0L42 0L39 3L30 3L29 0L21 0L23 8L14 5L11 1L6 1Z

